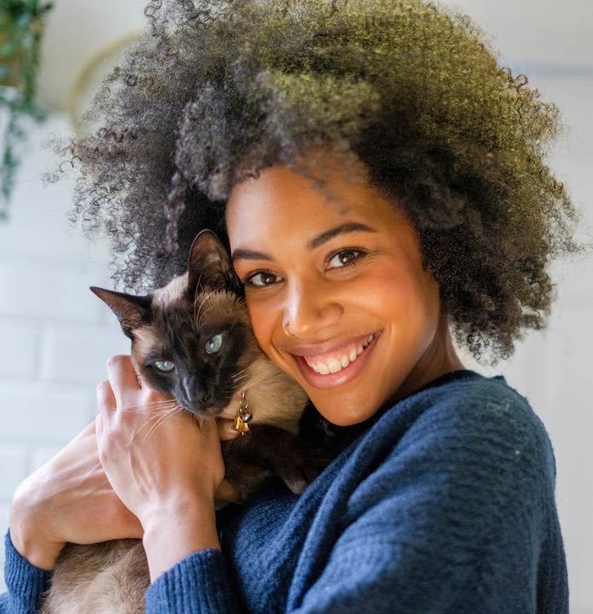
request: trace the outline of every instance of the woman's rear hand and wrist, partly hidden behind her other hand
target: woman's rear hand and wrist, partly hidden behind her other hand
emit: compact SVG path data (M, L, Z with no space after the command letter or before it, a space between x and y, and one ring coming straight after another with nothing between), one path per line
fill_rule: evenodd
M142 525L114 493L100 465L95 421L18 486L9 524L17 551L42 569L55 567L67 541L142 537Z

